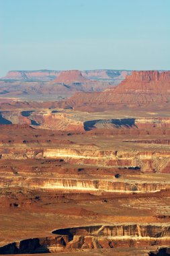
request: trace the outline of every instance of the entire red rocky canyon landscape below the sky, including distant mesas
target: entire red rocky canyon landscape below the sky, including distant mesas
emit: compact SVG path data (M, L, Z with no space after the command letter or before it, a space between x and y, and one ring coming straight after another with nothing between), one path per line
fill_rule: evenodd
M170 255L169 71L0 84L0 254Z

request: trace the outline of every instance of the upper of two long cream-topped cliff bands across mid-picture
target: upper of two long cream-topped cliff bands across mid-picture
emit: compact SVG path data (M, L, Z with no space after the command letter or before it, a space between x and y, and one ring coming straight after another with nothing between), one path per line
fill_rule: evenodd
M3 148L1 159L64 159L70 164L91 164L116 166L118 168L135 168L142 172L167 172L170 170L170 153L168 151L112 151L112 150L77 150L75 148L27 149Z

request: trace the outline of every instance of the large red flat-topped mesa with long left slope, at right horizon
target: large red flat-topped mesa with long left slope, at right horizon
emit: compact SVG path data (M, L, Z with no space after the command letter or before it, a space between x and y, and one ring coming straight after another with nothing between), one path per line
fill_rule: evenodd
M82 109L88 106L89 110L101 108L140 108L140 106L153 106L170 108L170 79L169 71L133 71L116 88L99 93L76 94L62 104L69 104Z

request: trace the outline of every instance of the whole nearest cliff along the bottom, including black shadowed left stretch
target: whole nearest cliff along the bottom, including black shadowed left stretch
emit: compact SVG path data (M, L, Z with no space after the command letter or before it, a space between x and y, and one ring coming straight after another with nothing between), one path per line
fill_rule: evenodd
M30 238L0 247L0 254L69 252L69 249L108 249L168 245L168 225L113 224L58 229L56 236ZM154 255L154 254L153 254Z

